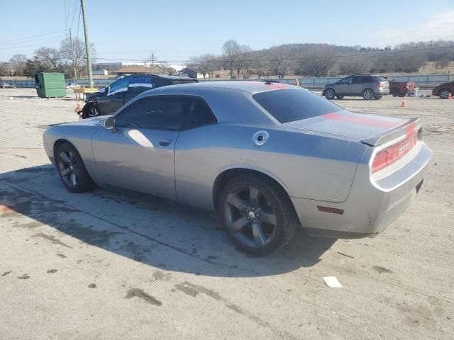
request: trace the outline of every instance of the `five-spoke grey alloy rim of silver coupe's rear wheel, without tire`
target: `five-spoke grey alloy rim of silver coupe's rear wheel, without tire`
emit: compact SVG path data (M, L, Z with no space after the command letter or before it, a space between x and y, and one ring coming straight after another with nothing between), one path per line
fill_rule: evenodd
M276 235L275 209L270 199L253 186L238 186L228 193L224 218L233 237L251 248L270 244Z

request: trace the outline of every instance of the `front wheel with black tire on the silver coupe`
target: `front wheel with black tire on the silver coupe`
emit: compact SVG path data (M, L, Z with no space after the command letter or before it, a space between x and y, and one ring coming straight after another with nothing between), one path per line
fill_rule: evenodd
M55 152L55 165L63 185L70 193L83 193L94 188L84 162L77 149L70 143L62 143Z

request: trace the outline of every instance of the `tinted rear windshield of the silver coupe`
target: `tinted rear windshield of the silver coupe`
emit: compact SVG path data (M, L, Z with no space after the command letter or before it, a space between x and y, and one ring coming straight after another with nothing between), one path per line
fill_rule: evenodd
M331 101L304 89L266 91L254 94L253 98L282 124L342 110Z

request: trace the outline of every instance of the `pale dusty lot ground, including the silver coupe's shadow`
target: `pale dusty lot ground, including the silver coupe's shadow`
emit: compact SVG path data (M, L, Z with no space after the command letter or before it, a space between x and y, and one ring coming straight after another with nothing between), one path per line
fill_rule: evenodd
M1 339L454 339L454 101L338 101L423 118L419 195L375 239L299 232L255 258L204 212L67 193L42 134L77 120L71 98L0 89Z

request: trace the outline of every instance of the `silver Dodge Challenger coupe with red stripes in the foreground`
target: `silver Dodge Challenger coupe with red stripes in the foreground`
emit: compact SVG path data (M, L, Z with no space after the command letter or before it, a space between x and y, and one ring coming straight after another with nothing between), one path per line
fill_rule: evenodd
M371 237L409 206L431 149L419 118L346 111L279 83L144 92L114 115L54 125L44 147L72 193L126 188L212 210L240 249Z

